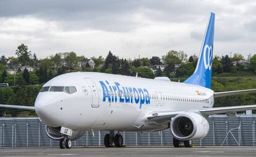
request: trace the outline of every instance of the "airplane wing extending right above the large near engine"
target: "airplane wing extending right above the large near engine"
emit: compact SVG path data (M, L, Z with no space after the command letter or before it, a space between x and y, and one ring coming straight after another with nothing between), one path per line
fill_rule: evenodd
M254 110L256 109L256 104L252 105L244 105L244 106L228 106L228 107L220 107L220 108L208 108L208 109L199 109L193 111L164 111L164 112L155 112L147 116L149 121L154 122L166 122L170 121L172 117L175 117L177 114L181 114L182 112L198 112L200 114L209 115L209 114L220 114L226 112L234 112L234 111L246 111L246 110Z

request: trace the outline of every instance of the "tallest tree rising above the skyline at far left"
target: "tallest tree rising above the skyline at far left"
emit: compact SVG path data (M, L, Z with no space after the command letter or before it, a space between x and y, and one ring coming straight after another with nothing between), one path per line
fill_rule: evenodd
M15 54L18 56L18 59L21 62L22 66L30 64L31 51L28 51L27 45L19 45L18 48L16 49Z

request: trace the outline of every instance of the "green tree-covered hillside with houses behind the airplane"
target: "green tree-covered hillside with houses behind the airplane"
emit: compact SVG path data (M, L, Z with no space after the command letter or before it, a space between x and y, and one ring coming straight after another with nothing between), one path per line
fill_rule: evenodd
M33 106L36 95L44 83L57 75L67 72L105 72L143 78L165 76L172 81L185 80L193 74L198 56L187 56L183 51L171 50L163 56L135 59L119 58L111 51L104 56L77 56L75 52L56 53L38 59L27 45L17 46L15 57L1 56L0 87L1 104ZM232 57L215 56L213 59L214 91L230 91L256 88L256 54L247 56L235 53ZM256 94L243 94L217 98L215 106L255 104ZM33 111L0 109L0 116L36 116Z

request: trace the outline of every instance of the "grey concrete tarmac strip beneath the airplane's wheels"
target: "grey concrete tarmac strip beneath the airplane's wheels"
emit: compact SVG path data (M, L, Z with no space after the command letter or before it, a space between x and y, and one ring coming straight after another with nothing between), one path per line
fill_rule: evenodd
M0 148L0 156L256 156L253 146L205 146L195 148L164 147L74 147L61 150L58 147Z

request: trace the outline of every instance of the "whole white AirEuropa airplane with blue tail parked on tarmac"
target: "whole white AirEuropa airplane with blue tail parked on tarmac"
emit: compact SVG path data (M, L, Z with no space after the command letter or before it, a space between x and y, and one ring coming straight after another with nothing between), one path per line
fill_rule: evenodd
M152 132L171 129L174 147L208 134L209 114L256 109L256 105L213 108L214 99L256 91L211 90L215 14L210 14L197 67L185 82L97 72L72 72L49 80L41 88L35 107L0 104L2 108L35 110L46 124L49 138L60 148L71 148L83 132L109 130L106 147L121 147L119 131ZM114 134L117 130L117 134Z

